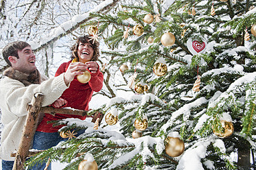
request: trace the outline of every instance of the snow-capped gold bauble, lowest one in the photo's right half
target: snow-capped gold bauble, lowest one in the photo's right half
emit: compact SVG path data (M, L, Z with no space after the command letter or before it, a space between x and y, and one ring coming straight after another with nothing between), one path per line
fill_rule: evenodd
M185 144L181 138L167 136L165 141L167 142L165 145L165 152L167 155L176 157L183 154Z

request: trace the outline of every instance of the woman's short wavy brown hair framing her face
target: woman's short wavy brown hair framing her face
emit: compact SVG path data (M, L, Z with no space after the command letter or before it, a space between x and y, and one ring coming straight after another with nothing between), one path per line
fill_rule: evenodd
M91 44L93 46L93 57L91 58L91 61L97 61L97 59L100 56L100 52L99 52L99 45L100 45L100 43L97 42L96 40L93 43L93 40L90 40L90 39L91 38L89 38L89 35L78 37L78 39L76 40L75 44L70 48L71 51L72 51L72 56L71 56L72 60L74 58L79 60L79 58L78 58L78 46L79 46L79 42L82 42L82 43L89 43L89 44Z

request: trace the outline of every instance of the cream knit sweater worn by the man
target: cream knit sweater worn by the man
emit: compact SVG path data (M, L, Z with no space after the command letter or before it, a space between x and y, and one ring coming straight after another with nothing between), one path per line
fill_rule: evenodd
M44 94L42 106L52 104L68 87L64 82L64 73L52 77L41 84L24 86L18 80L9 77L0 82L0 108L3 131L1 133L0 159L14 160L10 154L17 151L25 120L27 104L32 101L34 93Z

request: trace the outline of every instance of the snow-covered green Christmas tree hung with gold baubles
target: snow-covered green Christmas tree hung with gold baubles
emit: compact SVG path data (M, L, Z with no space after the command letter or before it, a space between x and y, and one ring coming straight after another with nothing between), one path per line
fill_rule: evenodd
M115 14L91 13L95 20L81 26L97 27L93 36L109 47L103 72L120 71L119 89L134 95L91 110L105 115L100 127L59 121L60 132L85 132L27 164L50 158L69 162L65 169L93 160L97 169L255 169L256 2L120 5Z

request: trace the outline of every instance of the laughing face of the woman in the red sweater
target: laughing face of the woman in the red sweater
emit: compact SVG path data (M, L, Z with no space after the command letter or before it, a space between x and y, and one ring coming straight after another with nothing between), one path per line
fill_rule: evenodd
M79 42L78 58L80 62L89 62L93 58L93 45L91 43Z

